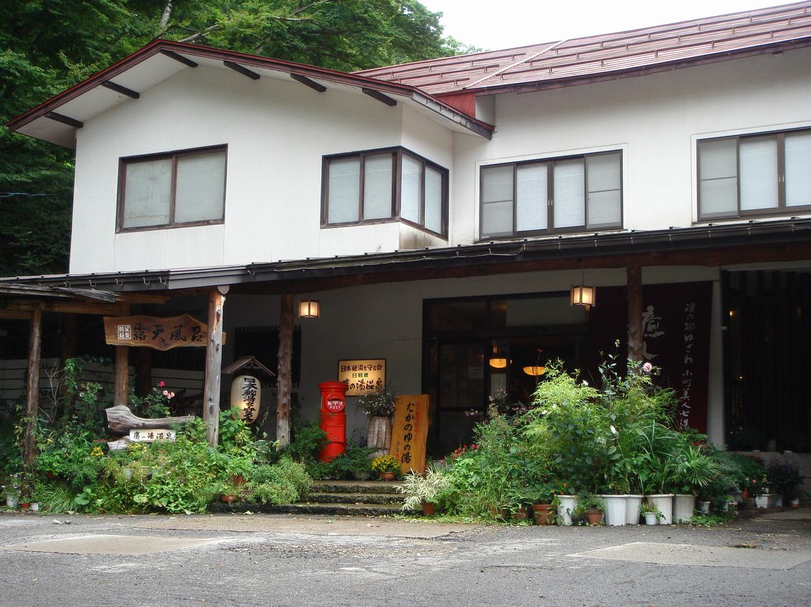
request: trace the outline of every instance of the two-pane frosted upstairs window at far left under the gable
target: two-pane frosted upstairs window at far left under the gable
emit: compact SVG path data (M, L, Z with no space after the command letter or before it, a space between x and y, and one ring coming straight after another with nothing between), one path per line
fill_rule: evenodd
M225 146L122 158L118 230L221 223Z

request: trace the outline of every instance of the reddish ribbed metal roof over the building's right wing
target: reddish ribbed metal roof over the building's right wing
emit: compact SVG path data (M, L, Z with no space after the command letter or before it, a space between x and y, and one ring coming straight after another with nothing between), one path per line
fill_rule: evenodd
M573 11L576 7L573 5ZM811 45L811 2L355 72L431 95L558 88Z

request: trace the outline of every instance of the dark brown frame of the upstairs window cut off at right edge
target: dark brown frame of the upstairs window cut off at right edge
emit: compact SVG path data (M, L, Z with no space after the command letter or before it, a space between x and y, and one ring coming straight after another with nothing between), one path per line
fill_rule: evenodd
M757 133L747 133L746 135L724 135L723 137L706 137L697 139L696 141L696 200L697 200L697 215L698 222L725 220L725 219L741 219L745 217L777 217L793 215L796 213L811 211L811 204L795 205L792 207L786 206L786 135L790 133L801 133L807 131L811 134L811 128L803 127L797 129L784 129L784 130L766 130ZM740 208L740 140L749 139L750 137L763 137L766 135L775 135L777 138L777 207L769 207L763 209L751 209L743 211ZM727 213L711 213L706 215L702 213L702 160L701 160L701 144L710 141L724 141L734 140L736 148L736 175L735 185L737 192L737 211Z

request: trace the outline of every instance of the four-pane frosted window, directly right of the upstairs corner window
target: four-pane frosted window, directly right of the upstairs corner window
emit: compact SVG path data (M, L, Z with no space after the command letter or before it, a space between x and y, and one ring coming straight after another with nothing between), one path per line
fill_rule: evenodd
M622 227L622 152L490 165L481 237Z

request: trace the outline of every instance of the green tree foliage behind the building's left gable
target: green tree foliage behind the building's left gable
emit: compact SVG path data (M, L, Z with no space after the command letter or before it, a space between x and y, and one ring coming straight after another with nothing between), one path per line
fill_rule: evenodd
M0 0L0 15L0 123L161 36L341 71L474 50L418 0ZM0 275L67 271L72 186L70 150L0 126Z

